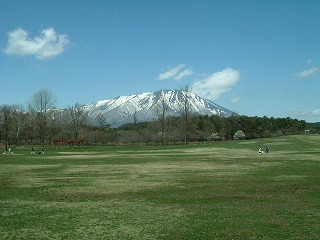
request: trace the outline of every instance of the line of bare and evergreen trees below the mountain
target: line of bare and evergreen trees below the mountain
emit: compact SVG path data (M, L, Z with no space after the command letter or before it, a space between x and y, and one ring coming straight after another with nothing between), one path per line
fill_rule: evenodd
M0 106L0 143L6 149L10 145L45 146L60 138L83 138L87 145L187 144L301 134L311 126L289 117L197 115L190 110L188 89L184 92L179 116L167 115L163 98L154 106L156 121L139 123L134 117L130 124L111 128L102 114L92 119L79 103L56 109L54 96L42 89L32 96L26 107ZM319 130L313 126L312 131Z

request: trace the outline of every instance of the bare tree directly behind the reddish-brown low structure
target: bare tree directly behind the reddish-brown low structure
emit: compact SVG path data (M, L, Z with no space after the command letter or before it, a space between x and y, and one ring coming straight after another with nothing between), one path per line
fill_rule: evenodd
M73 137L78 138L80 129L88 122L88 112L85 107L79 103L68 107L70 125L73 130Z

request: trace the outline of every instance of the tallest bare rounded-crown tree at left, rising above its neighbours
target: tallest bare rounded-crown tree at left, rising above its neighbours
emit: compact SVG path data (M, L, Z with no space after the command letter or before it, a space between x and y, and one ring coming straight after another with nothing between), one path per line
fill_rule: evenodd
M55 98L49 90L41 89L33 94L29 102L29 108L34 115L42 146L44 146L48 132L50 110L54 108L55 101Z

